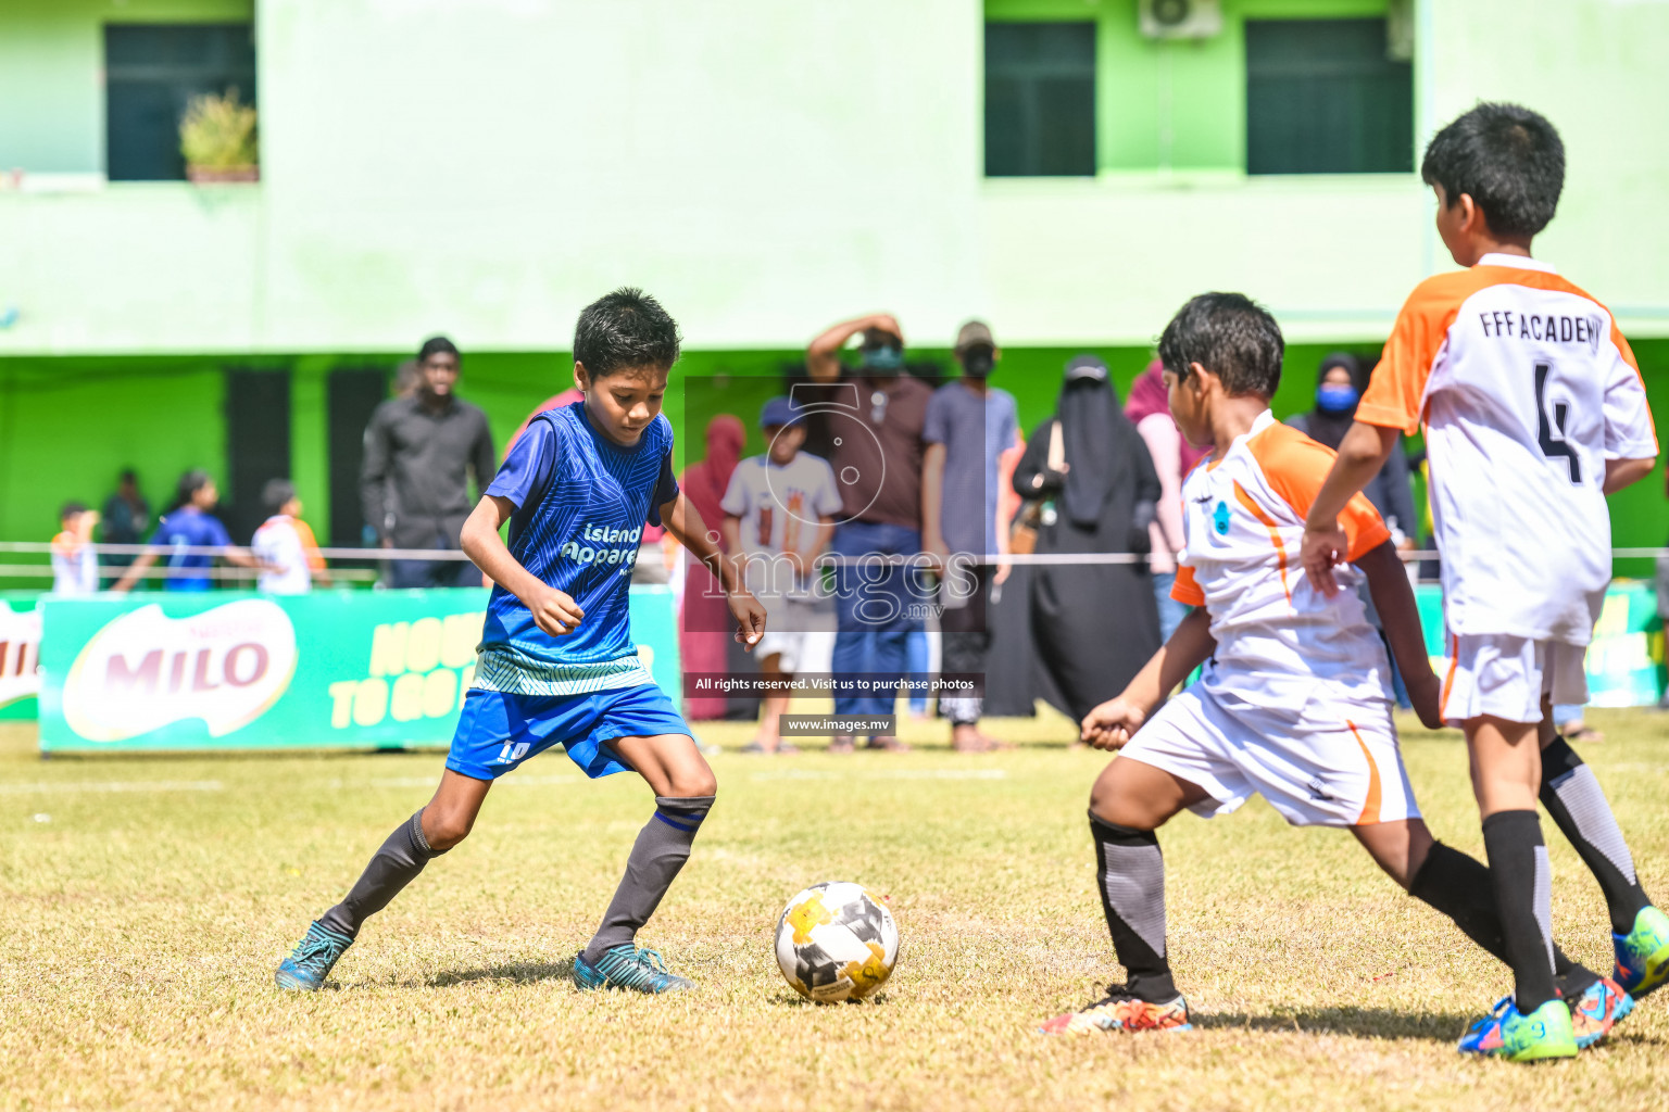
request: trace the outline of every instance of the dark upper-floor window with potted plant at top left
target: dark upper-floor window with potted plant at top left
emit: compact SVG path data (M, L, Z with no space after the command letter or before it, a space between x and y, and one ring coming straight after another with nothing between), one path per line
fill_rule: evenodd
M180 118L192 97L237 90L255 103L252 23L105 25L105 173L112 182L185 177Z

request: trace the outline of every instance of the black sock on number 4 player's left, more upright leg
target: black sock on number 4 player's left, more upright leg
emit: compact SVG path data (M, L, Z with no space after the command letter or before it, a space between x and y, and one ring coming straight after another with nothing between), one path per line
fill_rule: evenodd
M1552 870L1534 810L1499 810L1484 820L1484 850L1495 889L1512 997L1522 1015L1554 999Z

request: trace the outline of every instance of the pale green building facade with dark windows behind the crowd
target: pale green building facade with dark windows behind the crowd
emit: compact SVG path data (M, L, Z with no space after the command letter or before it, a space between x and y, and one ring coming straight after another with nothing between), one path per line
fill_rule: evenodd
M162 505L264 462L354 543L345 460L401 358L451 335L502 442L623 283L743 413L833 320L891 310L948 363L983 317L1026 428L1070 353L1127 383L1182 300L1235 288L1280 318L1297 412L1450 267L1414 167L1480 98L1561 127L1537 253L1669 397L1669 5L1195 5L1212 30L1165 38L1145 0L5 0L0 540L127 465ZM169 105L250 48L259 183L145 180ZM1661 473L1614 510L1659 543Z

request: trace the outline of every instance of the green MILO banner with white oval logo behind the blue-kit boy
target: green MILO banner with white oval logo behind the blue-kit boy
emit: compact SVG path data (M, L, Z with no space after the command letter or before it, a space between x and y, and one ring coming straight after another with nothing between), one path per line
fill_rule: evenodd
M484 589L45 597L40 747L444 745L486 604ZM678 699L671 592L633 589L631 622L649 672Z

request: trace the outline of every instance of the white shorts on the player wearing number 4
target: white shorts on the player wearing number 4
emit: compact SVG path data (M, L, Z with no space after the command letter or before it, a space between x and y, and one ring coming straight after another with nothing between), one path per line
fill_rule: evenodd
M1450 634L1442 715L1449 725L1492 715L1540 722L1542 695L1556 705L1587 702L1587 645L1507 634Z

